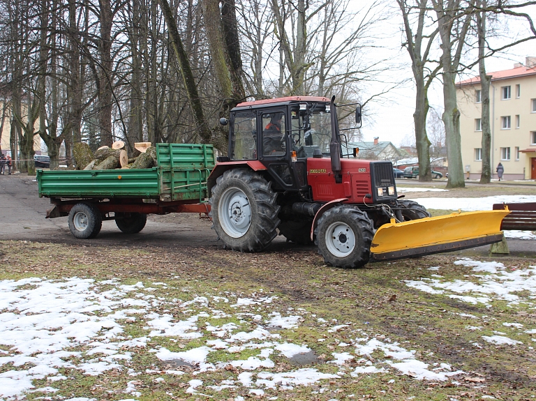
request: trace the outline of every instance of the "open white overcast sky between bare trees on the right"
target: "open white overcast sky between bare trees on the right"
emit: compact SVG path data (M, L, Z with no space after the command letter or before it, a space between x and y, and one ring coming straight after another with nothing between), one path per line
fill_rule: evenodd
M368 0L367 0L368 1ZM366 2L366 1L365 1ZM361 3L361 1L359 2ZM394 3L394 1L393 1ZM399 12L400 13L400 12ZM530 7L530 14L536 22L536 6ZM410 56L405 48L401 47L403 36L401 33L401 18L393 15L392 19L382 24L382 33L385 38L381 41L384 48L375 50L370 56L378 58L392 57L392 63L397 63L399 68L389 70L386 77L392 82L409 80L412 78ZM510 36L517 33L513 28L501 26L505 31L510 31ZM506 33L508 35L508 32ZM501 39L500 43L507 43ZM512 47L506 54L493 56L486 60L486 70L488 72L507 70L514 68L514 63L525 63L526 56L536 56L536 40L531 40L516 47ZM470 73L469 73L470 74ZM475 70L472 76L478 75ZM464 75L463 79L470 75ZM386 84L371 84L366 88L368 95L381 92L387 87ZM393 89L386 96L385 100L370 103L366 107L366 114L370 117L364 121L362 133L365 141L372 141L374 137L379 137L380 141L390 141L396 146L407 144L414 137L413 112L415 111L415 84L409 81L400 89ZM442 112L442 86L436 81L431 91L429 91L429 101L431 107ZM415 139L413 139L415 142Z

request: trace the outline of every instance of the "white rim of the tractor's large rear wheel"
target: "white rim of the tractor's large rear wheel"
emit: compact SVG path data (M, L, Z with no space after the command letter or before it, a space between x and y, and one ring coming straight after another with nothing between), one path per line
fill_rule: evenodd
M239 188L227 188L218 204L218 218L225 234L240 238L251 225L251 206L246 194Z

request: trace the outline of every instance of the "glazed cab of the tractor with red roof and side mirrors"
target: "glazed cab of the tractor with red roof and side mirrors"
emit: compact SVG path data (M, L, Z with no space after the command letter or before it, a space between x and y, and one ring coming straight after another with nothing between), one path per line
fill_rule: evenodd
M358 116L360 123L359 106L356 121ZM229 156L221 161L257 160L277 190L306 190L308 159L325 158L324 164L332 166L325 172L336 174L338 167L340 175L340 159L355 156L348 154L348 145L341 146L347 141L339 133L334 99L294 96L244 102L232 109L229 121L222 120L230 123L230 130Z

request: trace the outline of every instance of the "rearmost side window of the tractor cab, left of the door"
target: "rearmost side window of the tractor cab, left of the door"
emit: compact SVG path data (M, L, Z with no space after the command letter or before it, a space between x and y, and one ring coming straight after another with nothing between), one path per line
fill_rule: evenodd
M253 112L234 114L232 126L232 160L255 160L257 158L257 116Z

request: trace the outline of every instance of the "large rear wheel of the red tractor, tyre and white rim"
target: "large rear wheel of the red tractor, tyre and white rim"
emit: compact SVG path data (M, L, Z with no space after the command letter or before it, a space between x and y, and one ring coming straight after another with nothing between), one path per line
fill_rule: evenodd
M279 209L271 183L248 169L230 169L212 188L211 218L225 246L256 252L277 235Z

